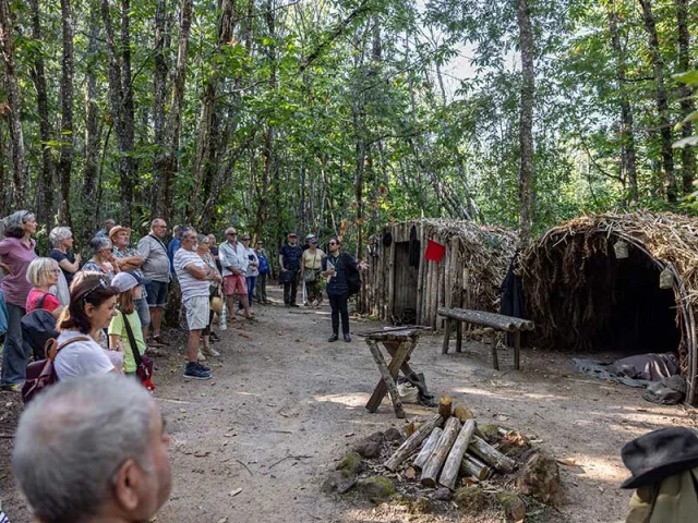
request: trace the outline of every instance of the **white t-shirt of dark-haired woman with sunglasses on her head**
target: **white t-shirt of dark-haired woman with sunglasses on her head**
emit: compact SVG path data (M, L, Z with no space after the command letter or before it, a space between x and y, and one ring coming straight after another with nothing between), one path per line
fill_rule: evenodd
M53 361L53 367L59 379L81 378L93 374L107 374L115 366L105 351L88 335L76 330L64 330L58 337L58 344L73 338L88 338L87 341L74 341L59 351Z

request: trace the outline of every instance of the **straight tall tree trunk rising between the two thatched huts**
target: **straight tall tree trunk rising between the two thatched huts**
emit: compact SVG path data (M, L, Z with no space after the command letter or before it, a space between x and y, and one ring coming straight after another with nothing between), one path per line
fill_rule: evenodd
M533 28L527 0L518 0L517 21L521 48L521 108L519 120L519 242L528 246L531 240L531 181L533 179Z

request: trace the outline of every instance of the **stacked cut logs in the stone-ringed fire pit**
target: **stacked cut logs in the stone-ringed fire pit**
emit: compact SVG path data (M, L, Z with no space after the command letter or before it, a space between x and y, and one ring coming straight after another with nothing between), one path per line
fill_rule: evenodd
M458 411L458 409L456 409ZM500 452L477 434L474 419L461 419L452 411L452 400L443 397L438 414L419 426L385 462L390 472L417 453L412 467L425 487L457 488L458 477L488 479L495 471L514 472L516 461ZM420 447L421 446L421 447ZM419 452L418 452L419 450Z

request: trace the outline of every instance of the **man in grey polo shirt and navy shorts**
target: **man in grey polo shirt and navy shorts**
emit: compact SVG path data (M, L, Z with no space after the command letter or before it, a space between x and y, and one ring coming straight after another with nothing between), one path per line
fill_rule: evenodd
M156 218L151 223L151 233L143 236L139 242L137 253L145 259L143 273L151 281L145 285L147 292L146 301L151 312L151 323L153 324L154 345L167 345L167 341L160 335L163 325L163 309L167 303L167 288L170 281L170 260L167 247L163 238L167 232L167 223L160 218ZM148 327L143 329L145 340L147 340Z

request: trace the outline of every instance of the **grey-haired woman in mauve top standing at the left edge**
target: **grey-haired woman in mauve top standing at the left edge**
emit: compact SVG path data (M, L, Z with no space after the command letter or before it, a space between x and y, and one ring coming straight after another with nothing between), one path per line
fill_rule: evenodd
M0 242L0 269L4 278L0 290L8 306L8 331L2 352L0 387L16 391L26 377L29 354L22 346L22 316L26 314L26 299L32 283L26 279L26 270L36 258L36 218L28 210L17 210L4 219L4 240Z

